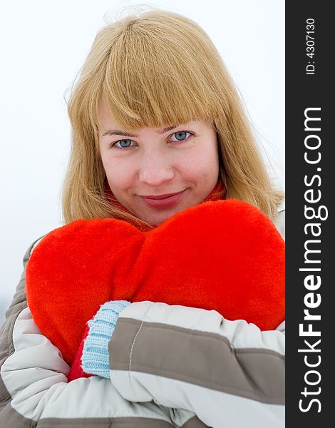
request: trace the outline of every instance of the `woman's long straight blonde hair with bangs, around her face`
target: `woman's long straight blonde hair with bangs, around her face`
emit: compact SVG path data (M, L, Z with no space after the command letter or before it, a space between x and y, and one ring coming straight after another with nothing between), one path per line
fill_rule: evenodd
M262 161L234 83L209 36L168 11L126 16L101 29L68 101L72 147L63 184L63 218L121 218L143 224L105 192L98 145L104 101L127 131L192 120L217 131L225 198L244 200L269 218L283 194Z

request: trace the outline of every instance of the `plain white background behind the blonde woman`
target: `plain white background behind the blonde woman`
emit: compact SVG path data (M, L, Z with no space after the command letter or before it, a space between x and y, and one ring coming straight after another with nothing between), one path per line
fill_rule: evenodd
M61 225L65 98L105 21L143 1L16 0L0 11L0 323L33 240ZM284 189L284 0L151 1L196 21L237 84Z

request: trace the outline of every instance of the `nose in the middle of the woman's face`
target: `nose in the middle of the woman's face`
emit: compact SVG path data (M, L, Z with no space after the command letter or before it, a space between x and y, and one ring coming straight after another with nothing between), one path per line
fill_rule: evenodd
M150 153L143 156L138 178L141 183L159 186L175 176L173 167L164 153Z

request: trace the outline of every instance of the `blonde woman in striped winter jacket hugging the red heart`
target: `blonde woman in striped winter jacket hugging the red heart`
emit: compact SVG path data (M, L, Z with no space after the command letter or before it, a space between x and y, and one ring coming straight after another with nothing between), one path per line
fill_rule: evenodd
M283 233L283 196L219 54L190 19L152 11L105 26L68 113L66 223L120 218L153 228L219 188ZM1 330L1 427L284 424L283 325L260 332L217 312L137 302L120 310L110 350L112 382L68 382L68 365L26 306L23 275Z

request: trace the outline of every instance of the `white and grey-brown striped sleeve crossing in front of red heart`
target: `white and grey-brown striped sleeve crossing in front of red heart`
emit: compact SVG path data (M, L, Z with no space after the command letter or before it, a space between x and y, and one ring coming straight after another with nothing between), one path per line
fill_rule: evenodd
M261 332L216 311L136 302L109 355L125 399L186 409L209 427L284 427L284 323Z

